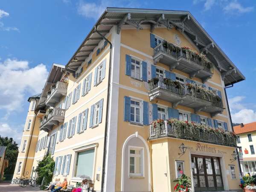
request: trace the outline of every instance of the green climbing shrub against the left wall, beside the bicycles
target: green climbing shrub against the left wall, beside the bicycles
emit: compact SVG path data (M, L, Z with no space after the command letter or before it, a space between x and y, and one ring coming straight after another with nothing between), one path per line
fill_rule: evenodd
M38 175L36 183L42 184L43 186L48 185L52 180L54 166L55 162L50 155L44 156L41 161L38 161L38 167L35 169Z

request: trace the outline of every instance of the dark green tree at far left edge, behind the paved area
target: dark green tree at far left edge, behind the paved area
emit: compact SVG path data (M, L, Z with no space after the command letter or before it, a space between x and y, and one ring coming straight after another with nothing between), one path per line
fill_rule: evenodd
M18 157L18 144L12 137L1 137L0 136L0 146L6 146L6 157L9 161L9 166L5 169L5 175L13 175L15 171L16 161Z

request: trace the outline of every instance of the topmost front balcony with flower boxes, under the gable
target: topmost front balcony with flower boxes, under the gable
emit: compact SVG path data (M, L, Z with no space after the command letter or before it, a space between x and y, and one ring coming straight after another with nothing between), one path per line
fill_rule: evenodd
M203 83L213 75L213 65L203 55L167 42L154 47L153 60L155 64L160 62L168 65L170 70L177 69L188 73L190 78L198 77Z

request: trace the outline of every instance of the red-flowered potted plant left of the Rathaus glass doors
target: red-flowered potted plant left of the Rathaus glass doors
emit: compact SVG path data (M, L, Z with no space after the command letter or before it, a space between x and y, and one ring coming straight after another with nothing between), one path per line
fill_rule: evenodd
M174 180L174 182L177 182L174 190L177 192L192 192L190 178L186 176L183 171L180 171L180 173L181 176Z

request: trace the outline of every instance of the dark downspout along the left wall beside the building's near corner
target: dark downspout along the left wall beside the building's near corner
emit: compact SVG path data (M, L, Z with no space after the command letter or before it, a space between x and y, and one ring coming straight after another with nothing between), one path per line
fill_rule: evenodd
M104 191L104 181L105 181L105 161L106 161L106 151L107 151L107 134L108 134L108 110L109 106L109 94L110 94L110 80L111 80L111 60L112 60L112 44L105 38L100 32L97 31L97 27L94 26L94 31L98 33L105 41L110 45L110 55L109 55L109 67L108 67L108 95L107 95L107 110L106 110L106 119L105 119L105 134L104 134L104 149L103 149L103 163L102 163L102 183L101 183L101 192Z

